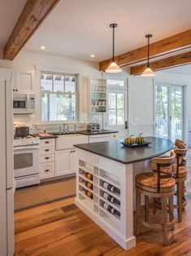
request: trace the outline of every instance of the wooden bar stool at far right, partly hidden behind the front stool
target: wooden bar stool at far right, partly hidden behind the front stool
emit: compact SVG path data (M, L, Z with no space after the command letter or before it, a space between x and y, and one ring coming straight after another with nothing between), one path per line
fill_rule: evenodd
M183 143L180 143L179 148L175 149L176 162L173 166L173 178L176 180L176 198L177 203L174 203L174 208L178 211L178 222L182 221L182 211L186 206L186 200L184 196L185 192L185 180L187 179L187 169L185 156L188 148Z

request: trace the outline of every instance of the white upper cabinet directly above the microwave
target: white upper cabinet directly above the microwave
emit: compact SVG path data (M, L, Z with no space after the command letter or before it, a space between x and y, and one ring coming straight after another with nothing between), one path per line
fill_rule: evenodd
M34 72L33 70L15 70L15 83L13 91L33 92Z

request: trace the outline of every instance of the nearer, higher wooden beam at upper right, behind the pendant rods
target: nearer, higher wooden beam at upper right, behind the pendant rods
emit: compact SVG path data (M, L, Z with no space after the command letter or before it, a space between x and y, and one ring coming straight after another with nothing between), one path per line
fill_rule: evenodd
M174 51L181 51L185 48L191 47L191 29L178 33L169 38L164 38L158 42L150 44L150 58L156 56L167 55ZM142 46L133 51L126 52L122 55L115 57L116 63L120 66L127 66L129 64L135 64L141 60L145 60L147 57L147 46ZM103 60L99 64L99 70L105 71L106 68L111 64L110 60Z

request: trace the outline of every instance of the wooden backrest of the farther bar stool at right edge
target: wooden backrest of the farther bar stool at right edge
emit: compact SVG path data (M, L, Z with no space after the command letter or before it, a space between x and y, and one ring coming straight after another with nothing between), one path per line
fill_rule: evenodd
M176 177L179 178L180 166L186 166L185 156L188 151L184 143L179 144L179 148L175 149L176 154Z

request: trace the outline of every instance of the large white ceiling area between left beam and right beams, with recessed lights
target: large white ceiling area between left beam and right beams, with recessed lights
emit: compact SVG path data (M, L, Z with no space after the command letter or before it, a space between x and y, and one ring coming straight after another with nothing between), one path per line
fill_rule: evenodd
M39 51L43 45L46 52L104 60L112 51L110 23L119 24L118 55L144 46L145 33L153 33L155 42L191 29L190 10L190 0L61 0L26 47Z

